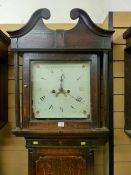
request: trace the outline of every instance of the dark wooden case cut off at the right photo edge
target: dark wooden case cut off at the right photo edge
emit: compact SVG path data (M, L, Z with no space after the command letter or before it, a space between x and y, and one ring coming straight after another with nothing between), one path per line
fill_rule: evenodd
M131 27L123 34L125 48L125 132L131 136Z

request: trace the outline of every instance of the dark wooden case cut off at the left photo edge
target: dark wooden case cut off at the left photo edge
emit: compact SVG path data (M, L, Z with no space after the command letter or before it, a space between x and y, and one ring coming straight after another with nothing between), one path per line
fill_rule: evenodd
M0 128L8 121L8 45L10 39L0 31Z

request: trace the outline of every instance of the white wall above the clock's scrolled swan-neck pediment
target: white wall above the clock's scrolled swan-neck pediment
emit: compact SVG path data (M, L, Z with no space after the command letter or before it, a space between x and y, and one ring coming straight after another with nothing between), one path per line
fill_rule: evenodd
M111 11L131 11L131 0L0 0L0 24L26 23L39 8L51 11L50 23L68 23L70 10L84 9L94 22L100 23Z

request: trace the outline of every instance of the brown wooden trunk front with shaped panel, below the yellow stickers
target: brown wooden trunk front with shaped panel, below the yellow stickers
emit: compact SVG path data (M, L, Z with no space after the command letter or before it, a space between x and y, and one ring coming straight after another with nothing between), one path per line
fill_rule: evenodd
M93 159L90 153L87 147L32 148L29 152L34 166L32 175L93 175L89 166Z

